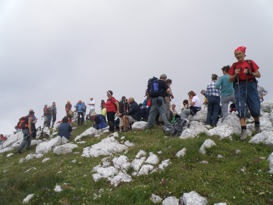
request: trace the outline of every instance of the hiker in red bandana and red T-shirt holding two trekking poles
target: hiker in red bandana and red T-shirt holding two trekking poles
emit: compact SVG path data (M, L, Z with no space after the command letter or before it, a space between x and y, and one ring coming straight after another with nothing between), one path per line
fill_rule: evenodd
M260 133L260 109L261 103L257 90L255 77L260 77L259 67L253 60L245 60L246 47L240 46L234 51L235 58L238 62L233 63L228 74L229 82L235 80L234 93L236 99L236 110L239 113L239 121L241 124L241 141L245 141L247 134L246 122L246 104L249 107L251 115L255 123L255 132Z

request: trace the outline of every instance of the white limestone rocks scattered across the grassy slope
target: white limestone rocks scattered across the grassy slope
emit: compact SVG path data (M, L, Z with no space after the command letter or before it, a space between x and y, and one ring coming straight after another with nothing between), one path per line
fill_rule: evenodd
M254 134L254 121L253 118L247 119L247 133L249 134L249 137L251 138L247 142L241 142L241 143L248 143L249 147L251 147L255 144L263 144L266 147L272 147L273 149L273 102L262 102L261 103L261 116L260 116L260 127L262 132L258 134ZM205 125L206 121L206 114L207 110L201 110L197 112L194 116L190 116L189 120L191 125L189 128L184 130L181 134L181 136L178 136L176 138L177 140L180 140L181 143L183 140L187 140L189 138L196 138L199 139L202 134L207 134L210 136L210 139L206 139L200 144L198 147L197 152L199 152L200 159L196 159L197 163L200 163L202 165L200 166L206 166L208 163L207 160L202 160L202 156L207 155L207 151L211 149L222 149L219 147L219 141L226 140L227 142L232 141L234 134L240 134L241 127L239 124L239 119L236 115L236 113L228 114L228 117L226 120L221 123L221 120L218 121L216 127L211 127L209 125ZM75 114L73 117L72 122L75 122L75 119L77 118L77 115ZM109 185L113 187L122 187L127 185L130 186L130 183L134 181L134 179L137 179L138 177L144 177L146 176L146 179L149 179L149 176L156 176L154 173L169 173L171 172L171 166L173 165L173 161L183 159L187 157L188 153L192 153L190 147L180 147L179 149L176 149L175 155L164 155L166 152L171 151L171 146L155 151L148 151L145 149L142 149L138 146L138 142L134 140L134 136L138 132L144 133L144 135L147 136L147 138L150 135L153 135L152 130L145 130L146 128L146 122L135 122L132 125L132 130L127 133L125 137L123 136L123 133L115 132L112 134L108 134L108 127L104 128L103 130L96 130L92 127L87 128L86 130L83 130L82 133L75 136L75 139L71 142L64 137L57 136L57 131L59 128L59 123L54 124L52 129L44 128L43 133L47 133L49 135L49 138L42 138L41 132L37 133L37 138L35 140L32 140L31 147L34 148L32 153L29 153L27 155L22 155L21 158L17 161L17 164L24 165L25 169L24 172L31 173L37 170L36 167L32 166L32 162L40 160L40 163L50 164L53 160L58 160L58 157L61 157L61 155L70 155L73 157L70 159L70 161L65 161L67 166L73 167L76 166L74 164L80 164L79 159L98 159L96 160L97 164L94 164L92 167L90 167L90 173L79 173L79 175L82 174L82 177L92 177L92 180L94 183L100 182L105 180L104 183L109 183ZM154 128L153 128L154 129ZM156 127L156 129L160 129ZM142 130L142 131L141 131ZM101 132L102 131L102 132ZM162 130L163 132L163 130ZM5 161L8 161L11 159L11 157L14 157L15 150L18 148L20 142L22 141L22 132L16 133L16 134L9 134L5 135L7 138L7 141L5 141L1 148L1 158L5 159ZM215 138L214 136L217 136ZM127 138L127 139L126 139ZM167 142L169 139L173 139L173 136L165 136L164 140ZM96 143L90 143L88 139L96 140ZM84 141L83 141L84 140ZM154 144L154 147L157 147L158 145ZM136 151L133 151L130 157L127 156L127 153L129 150L135 149ZM224 149L224 148L223 148ZM76 151L75 151L76 150ZM167 151L166 151L167 150ZM196 152L195 151L195 152ZM273 150L272 150L273 151ZM256 150L256 152L258 152ZM49 157L49 154L51 154ZM54 155L53 155L54 154ZM234 154L237 155L243 155L240 151L240 149L237 149L234 147ZM16 155L17 156L17 155ZM166 157L169 156L169 157ZM175 160L174 160L175 158ZM224 154L217 154L217 160L224 159ZM268 173L273 173L273 152L268 155L264 156L264 158L259 158L258 160L265 159L266 163L268 164ZM254 160L255 161L255 160ZM255 162L254 162L255 163ZM257 160L256 160L257 163ZM9 169L11 169L11 166L14 166L13 164L10 164L5 167L1 167L1 175L7 175L9 173ZM247 168L242 166L238 167L238 172L243 174L246 172ZM41 170L42 171L42 170ZM60 170L54 170L57 174L61 174L62 171ZM189 168L184 169L183 171L191 171ZM181 170L182 172L182 170ZM84 174L84 175L83 175ZM178 173L177 173L178 174ZM256 173L255 173L256 174ZM224 175L224 173L223 173ZM271 176L271 175L270 175ZM76 176L80 178L79 176ZM90 179L90 178L89 178ZM145 178L143 178L145 179ZM150 179L148 180L150 181ZM172 183L175 181L175 179L172 179ZM101 182L103 184L103 182ZM167 188L167 182L166 180L162 179L161 184L162 186L166 186ZM92 184L90 182L90 184ZM55 185L54 187L49 187L48 189L54 190L54 193L61 194L65 188L70 187L69 183L63 183L60 185ZM96 184L96 187L100 186L99 184ZM206 186L206 183L204 182L204 186ZM253 185L254 186L254 185ZM72 186L71 186L72 187ZM135 187L131 187L131 189L134 189ZM181 187L180 187L181 188ZM73 188L71 188L73 189ZM82 188L84 189L84 188ZM97 190L97 189L96 189ZM145 189L144 189L145 190ZM228 191L228 190L227 190ZM86 193L88 191L86 190ZM97 194L94 195L93 200L98 200L100 196L102 196L103 188L97 192ZM150 202L155 204L187 204L187 205L198 205L198 204L227 204L224 200L223 201L211 201L212 196L204 195L203 193L197 193L195 190L190 190L188 192L182 192L180 196L173 196L171 194L172 191L169 191L168 195L161 195L158 196L156 193L156 190L153 190L150 193ZM217 192L217 190L214 190L214 192ZM48 193L50 193L48 191ZM110 191L109 191L110 193ZM146 194L143 193L144 195ZM28 204L32 203L32 200L36 198L37 193L28 193L25 198L22 198L21 203ZM262 195L262 194L260 194ZM75 195L74 195L75 196ZM109 195L110 197L110 195ZM230 199L231 200L231 199ZM230 201L229 200L229 201ZM60 200L61 201L61 200ZM231 200L232 201L232 200ZM34 203L34 202L33 202ZM43 204L43 203L42 203ZM60 204L65 204L65 202L61 201ZM67 203L68 204L68 203ZM86 204L89 204L89 202ZM90 202L91 204L91 202ZM140 203L141 204L141 203Z

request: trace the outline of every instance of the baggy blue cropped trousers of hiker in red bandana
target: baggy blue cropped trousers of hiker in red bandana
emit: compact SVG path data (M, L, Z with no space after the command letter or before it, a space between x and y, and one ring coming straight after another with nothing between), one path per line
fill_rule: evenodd
M241 100L241 110L239 106L239 92L238 92L238 84L235 84L234 93L236 99L236 110L239 113L239 116L245 116L245 93L246 93L246 83L240 83L240 100ZM258 94L257 86L254 81L247 82L247 106L251 112L252 117L256 118L260 116L261 110L261 102ZM241 113L241 115L240 115Z

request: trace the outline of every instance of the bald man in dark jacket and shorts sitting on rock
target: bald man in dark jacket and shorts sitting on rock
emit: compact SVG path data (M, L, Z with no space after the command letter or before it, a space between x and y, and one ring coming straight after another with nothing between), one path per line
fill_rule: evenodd
M125 124L124 130L129 130L129 123L138 122L141 120L141 111L138 104L135 102L133 97L130 97L128 100L128 104L130 104L130 108L128 112L122 112L117 114L117 116L123 116L123 124Z

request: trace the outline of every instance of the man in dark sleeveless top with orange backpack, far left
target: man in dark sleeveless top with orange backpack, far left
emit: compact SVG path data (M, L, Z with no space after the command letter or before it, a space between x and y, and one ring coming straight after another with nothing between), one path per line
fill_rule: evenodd
M21 153L21 151L24 149L25 145L26 145L26 150L30 149L30 144L31 144L31 140L32 140L31 134L32 134L32 131L34 131L34 130L31 130L31 122L32 122L33 116L34 116L34 112L30 111L29 114L25 118L25 127L22 128L23 141L21 142L18 149L16 150L16 152L18 154Z

